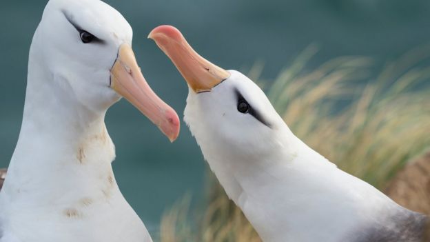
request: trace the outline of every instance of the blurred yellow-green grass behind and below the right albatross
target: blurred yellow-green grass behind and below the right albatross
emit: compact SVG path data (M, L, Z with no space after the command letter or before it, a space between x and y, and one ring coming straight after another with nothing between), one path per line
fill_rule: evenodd
M309 70L316 52L309 46L271 85L258 83L297 137L340 169L382 189L430 147L430 45L379 71L367 57L338 57ZM262 70L257 63L248 76L259 80ZM212 172L207 191L204 208L189 211L190 196L185 196L165 212L160 241L260 241Z

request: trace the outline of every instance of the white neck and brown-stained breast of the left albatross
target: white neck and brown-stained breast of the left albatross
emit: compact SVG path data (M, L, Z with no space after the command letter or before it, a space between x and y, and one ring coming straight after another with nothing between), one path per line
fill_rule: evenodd
M23 122L0 193L0 241L152 241L119 191L104 110L30 50ZM72 73L70 73L72 74Z

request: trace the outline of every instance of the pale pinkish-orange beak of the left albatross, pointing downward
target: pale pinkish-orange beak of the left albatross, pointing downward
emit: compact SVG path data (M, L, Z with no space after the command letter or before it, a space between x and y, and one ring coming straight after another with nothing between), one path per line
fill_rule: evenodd
M152 91L129 45L119 48L110 80L110 87L145 114L171 142L178 137L178 114Z

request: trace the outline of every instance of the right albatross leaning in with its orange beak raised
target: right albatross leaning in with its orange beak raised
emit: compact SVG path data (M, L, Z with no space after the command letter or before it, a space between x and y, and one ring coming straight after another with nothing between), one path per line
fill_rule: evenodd
M149 37L187 81L184 120L263 241L424 241L426 216L300 141L245 75L203 59L172 26Z

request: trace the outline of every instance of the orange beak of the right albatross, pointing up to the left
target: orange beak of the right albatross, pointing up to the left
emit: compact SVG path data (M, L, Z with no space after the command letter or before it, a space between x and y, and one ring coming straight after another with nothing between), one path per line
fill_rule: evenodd
M230 76L197 54L173 26L158 26L148 38L167 54L194 92L208 92Z

